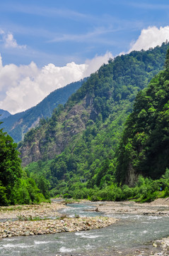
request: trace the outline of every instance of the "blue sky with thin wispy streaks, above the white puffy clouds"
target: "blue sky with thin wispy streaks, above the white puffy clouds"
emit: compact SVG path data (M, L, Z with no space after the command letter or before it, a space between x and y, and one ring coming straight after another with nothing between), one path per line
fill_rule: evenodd
M107 51L127 52L143 28L168 26L168 20L167 0L6 0L0 28L23 47L0 42L0 53L4 64L84 63Z

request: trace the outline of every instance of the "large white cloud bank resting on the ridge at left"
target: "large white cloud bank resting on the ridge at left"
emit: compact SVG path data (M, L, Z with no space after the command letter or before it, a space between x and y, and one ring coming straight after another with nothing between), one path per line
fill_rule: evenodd
M80 65L72 62L57 67L50 63L40 69L33 62L30 65L3 66L0 55L0 108L11 114L28 110L53 90L91 75L109 58L112 54L106 53Z

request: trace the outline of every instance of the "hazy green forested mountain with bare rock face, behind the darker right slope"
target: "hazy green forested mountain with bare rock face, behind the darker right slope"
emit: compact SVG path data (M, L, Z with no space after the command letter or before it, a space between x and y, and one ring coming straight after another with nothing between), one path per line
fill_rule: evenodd
M110 60L47 122L31 129L19 149L23 165L35 161L26 167L28 175L38 181L43 174L54 195L83 198L94 189L98 197L98 191L110 184L115 193L115 151L124 122L137 93L163 69L168 46L163 43ZM120 197L120 191L117 194ZM105 195L101 198L115 199Z

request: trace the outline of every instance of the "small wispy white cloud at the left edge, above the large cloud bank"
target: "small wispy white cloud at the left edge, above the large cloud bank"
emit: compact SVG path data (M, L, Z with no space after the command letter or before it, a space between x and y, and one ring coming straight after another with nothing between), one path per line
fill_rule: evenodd
M1 43L5 48L18 48L18 49L23 49L26 48L26 46L20 46L18 45L17 41L15 38L13 38L12 33L5 33L1 28L0 28L0 35L1 35Z

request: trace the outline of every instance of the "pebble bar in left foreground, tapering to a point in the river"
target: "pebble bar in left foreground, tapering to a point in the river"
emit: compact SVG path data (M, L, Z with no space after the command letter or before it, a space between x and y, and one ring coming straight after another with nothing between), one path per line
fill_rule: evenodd
M107 217L64 218L64 220L16 220L0 223L0 238L18 235L44 235L105 228L117 219Z

